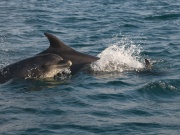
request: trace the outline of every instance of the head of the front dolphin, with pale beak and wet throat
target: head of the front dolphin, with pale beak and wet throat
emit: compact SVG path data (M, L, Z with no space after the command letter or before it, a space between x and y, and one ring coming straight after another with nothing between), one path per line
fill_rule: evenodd
M31 59L31 63L37 64L29 70L28 78L54 77L72 65L70 60L63 60L56 54L37 55Z

